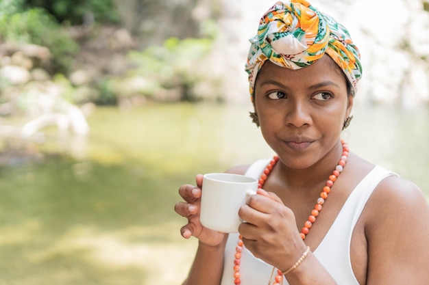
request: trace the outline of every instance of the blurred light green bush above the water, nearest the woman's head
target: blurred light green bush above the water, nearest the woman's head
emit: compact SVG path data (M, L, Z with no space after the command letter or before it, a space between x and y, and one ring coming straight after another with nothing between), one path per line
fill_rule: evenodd
M136 72L158 82L164 90L182 90L182 100L199 100L193 92L198 82L213 81L204 67L204 59L211 51L208 38L169 38L162 46L150 46L144 51L132 51L130 59L139 66ZM154 88L154 92L159 92ZM145 94L156 98L156 94Z

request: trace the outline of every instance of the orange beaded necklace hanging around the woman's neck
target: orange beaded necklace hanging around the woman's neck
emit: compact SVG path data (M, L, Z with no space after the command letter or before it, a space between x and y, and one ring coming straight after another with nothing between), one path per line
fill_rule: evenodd
M315 208L311 211L311 215L308 216L307 221L304 223L304 227L301 229L301 238L304 240L306 238L306 235L310 231L310 228L312 224L316 221L316 217L319 215L322 205L325 203L325 200L328 198L328 194L331 191L332 185L334 185L334 182L336 178L341 174L343 171L343 167L345 163L347 163L347 158L349 157L349 147L347 145L347 142L344 140L341 140L341 144L343 146L343 154L341 155L341 159L336 165L334 171L329 176L328 180L326 180L326 186L323 187L323 191L320 193L320 197L317 198L317 203L315 204ZM260 175L258 188L262 188L265 184L265 181L267 181L267 178L269 174L271 173L271 170L273 169L275 163L277 163L279 160L278 155L275 155L273 159L268 163L267 167L265 167L264 172ZM235 260L234 260L234 284L239 285L241 284L241 278L240 278L240 264L241 264L241 252L243 252L243 237L240 235L238 236L238 242L236 246L236 253L235 253ZM274 271L274 269L273 269ZM277 269L277 275L275 275L274 283L272 285L280 285L283 282L283 273L280 271L280 269ZM273 276L273 273L271 273L271 277ZM268 285L271 283L271 277L269 280Z

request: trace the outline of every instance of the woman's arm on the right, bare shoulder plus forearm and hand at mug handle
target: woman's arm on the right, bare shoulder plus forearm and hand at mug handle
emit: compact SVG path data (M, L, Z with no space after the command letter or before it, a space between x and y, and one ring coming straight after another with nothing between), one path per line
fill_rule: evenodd
M304 252L305 245L295 224L288 225L295 221L293 213L273 193L269 195L271 202L256 195L249 200L249 208L241 209L241 217L253 225L242 224L240 232L256 257L285 271ZM374 191L361 219L365 221L368 267L367 278L360 284L427 284L429 206L415 185L402 178L385 179ZM287 241L278 241L278 236ZM291 285L336 284L311 252L286 278Z

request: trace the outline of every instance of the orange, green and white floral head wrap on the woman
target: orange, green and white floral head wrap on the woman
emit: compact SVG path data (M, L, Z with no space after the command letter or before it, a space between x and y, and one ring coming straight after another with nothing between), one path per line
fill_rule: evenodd
M245 70L252 95L256 75L267 59L278 66L299 69L325 53L343 70L352 94L356 94L356 84L362 76L357 46L343 25L305 0L275 3L260 19L258 35L250 42Z

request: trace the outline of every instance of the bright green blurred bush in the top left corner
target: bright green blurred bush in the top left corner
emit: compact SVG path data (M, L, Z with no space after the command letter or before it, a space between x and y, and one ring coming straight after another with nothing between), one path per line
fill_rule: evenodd
M8 10L13 9L19 11L18 6L8 6ZM42 9L30 9L14 14L1 13L0 37L6 42L47 46L53 55L52 72L69 70L73 56L79 49L77 43Z

